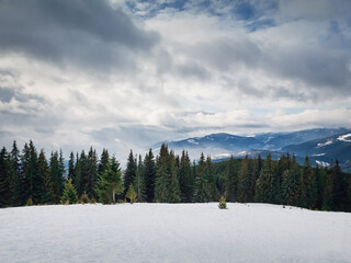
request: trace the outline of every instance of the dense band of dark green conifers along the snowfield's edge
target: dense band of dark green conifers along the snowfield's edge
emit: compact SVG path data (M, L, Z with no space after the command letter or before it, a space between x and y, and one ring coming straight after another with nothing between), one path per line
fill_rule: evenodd
M295 156L274 161L256 159L213 162L203 153L197 162L188 152L176 156L162 145L157 156L131 150L125 171L103 149L71 152L65 165L63 151L38 151L33 141L20 151L0 152L0 207L116 202L270 203L319 210L351 211L351 175L338 161L329 168L312 167L308 157L299 165Z

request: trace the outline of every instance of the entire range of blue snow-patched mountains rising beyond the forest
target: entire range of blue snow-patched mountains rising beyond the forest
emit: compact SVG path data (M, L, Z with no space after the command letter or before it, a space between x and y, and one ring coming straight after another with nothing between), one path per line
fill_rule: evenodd
M231 155L235 157L248 155L253 158L260 153L264 157L270 151L274 159L282 153L295 153L299 162L303 162L307 155L314 165L317 163L328 165L330 160L338 159L347 169L351 162L351 130L346 128L318 128L250 136L220 133L178 141L161 141L154 148L158 148L161 144L167 144L176 152L185 149L191 158L196 159L201 152L222 160Z

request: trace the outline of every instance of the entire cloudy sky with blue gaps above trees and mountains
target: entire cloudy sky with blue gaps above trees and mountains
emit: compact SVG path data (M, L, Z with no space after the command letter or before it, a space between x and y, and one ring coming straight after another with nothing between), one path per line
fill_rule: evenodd
M0 0L0 142L351 128L350 0Z

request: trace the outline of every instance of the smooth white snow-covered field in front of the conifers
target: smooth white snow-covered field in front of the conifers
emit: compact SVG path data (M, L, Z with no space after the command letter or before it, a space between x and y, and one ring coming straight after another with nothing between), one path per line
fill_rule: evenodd
M0 209L0 262L351 262L351 214L267 204Z

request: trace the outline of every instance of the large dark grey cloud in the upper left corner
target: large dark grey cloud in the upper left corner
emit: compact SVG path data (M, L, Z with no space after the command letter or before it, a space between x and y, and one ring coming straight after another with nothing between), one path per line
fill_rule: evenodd
M157 33L138 28L107 1L0 1L0 53L123 68L133 66L134 53L146 54L158 41Z

